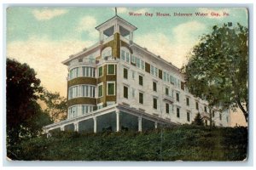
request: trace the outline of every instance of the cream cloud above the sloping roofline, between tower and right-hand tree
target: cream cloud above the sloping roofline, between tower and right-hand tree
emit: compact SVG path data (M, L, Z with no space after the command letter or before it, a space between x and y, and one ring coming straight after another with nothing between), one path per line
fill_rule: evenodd
M187 62L187 54L199 40L197 35L204 29L206 26L200 22L190 21L174 27L172 38L163 33L148 33L137 37L136 42L181 68Z

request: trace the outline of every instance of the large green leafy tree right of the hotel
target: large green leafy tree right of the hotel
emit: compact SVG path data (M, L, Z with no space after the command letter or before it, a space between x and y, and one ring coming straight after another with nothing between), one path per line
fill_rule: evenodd
M240 108L248 116L248 31L237 26L212 27L212 33L201 37L184 67L186 85L191 94L207 99L210 109ZM210 113L212 111L210 110ZM211 115L211 114L210 114Z

